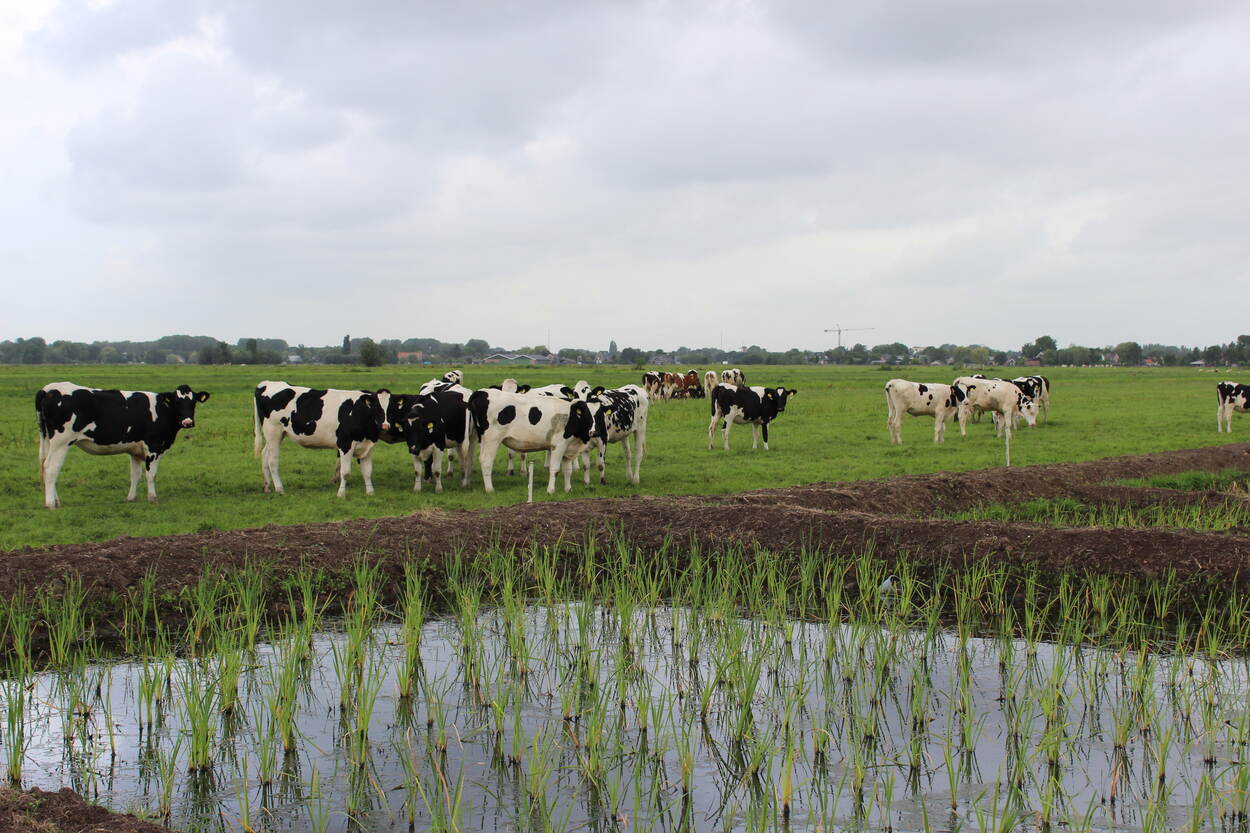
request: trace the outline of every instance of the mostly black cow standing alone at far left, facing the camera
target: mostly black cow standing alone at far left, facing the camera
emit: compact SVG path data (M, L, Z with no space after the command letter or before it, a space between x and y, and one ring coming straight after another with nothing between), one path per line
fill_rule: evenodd
M195 406L209 399L205 390L179 385L168 393L100 390L72 381L54 381L35 393L39 423L39 479L44 505L56 509L56 477L71 445L89 454L129 454L130 492L134 500L139 478L148 473L148 500L156 503L156 467L174 445L178 432L195 427Z

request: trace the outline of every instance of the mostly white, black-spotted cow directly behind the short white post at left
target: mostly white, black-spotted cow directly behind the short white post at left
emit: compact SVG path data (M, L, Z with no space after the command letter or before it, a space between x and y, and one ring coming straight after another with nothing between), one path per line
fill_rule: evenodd
M476 390L469 398L478 437L478 463L486 492L494 492L495 454L548 452L548 494L555 494L555 474L564 472L564 490L572 488L572 458L594 439L595 420L584 401L502 390Z

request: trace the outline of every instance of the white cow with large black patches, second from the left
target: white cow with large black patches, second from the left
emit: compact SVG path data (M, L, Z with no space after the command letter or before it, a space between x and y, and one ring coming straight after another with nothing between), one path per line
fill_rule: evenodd
M365 494L374 493L374 445L391 430L386 420L388 390L302 388L285 381L261 381L252 403L254 450L260 457L265 492L282 494L278 472L279 449L288 437L304 448L332 448L339 453L339 497L348 493L351 458L360 460Z

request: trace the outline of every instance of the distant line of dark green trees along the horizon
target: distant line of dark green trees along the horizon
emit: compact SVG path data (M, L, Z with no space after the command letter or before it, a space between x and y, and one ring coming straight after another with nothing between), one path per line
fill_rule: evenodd
M151 341L48 341L41 336L0 341L0 364L362 364L379 366L395 363L455 364L481 361L492 354L524 354L550 361L581 364L675 364L705 366L730 364L924 364L924 365L1159 365L1250 364L1250 335L1239 335L1226 344L1205 348L1122 341L1106 346L1059 346L1050 335L1041 335L1018 350L1002 350L984 344L936 344L909 346L854 344L829 350L766 350L759 345L736 350L679 346L675 350L626 346L611 341L606 350L546 345L506 350L485 339L441 341L439 339L379 339L344 335L335 345L306 346L285 339L248 338L228 344L208 335L165 335Z

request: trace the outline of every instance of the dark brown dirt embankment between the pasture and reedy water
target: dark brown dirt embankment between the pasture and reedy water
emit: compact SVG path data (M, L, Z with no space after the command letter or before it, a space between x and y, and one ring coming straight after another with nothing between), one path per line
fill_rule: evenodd
M611 498L520 504L489 510L419 510L400 518L264 527L162 538L25 549L0 555L0 593L78 574L98 592L124 590L155 568L161 588L194 582L206 565L248 562L281 568L341 569L358 555L390 560L442 559L490 545L609 540L644 548L666 539L704 548L794 549L800 545L884 558L961 560L981 557L1046 568L1155 574L1169 568L1250 580L1250 534L1155 529L1054 529L1036 524L931 519L980 504L1075 497L1130 504L1225 499L1205 493L1108 485L1189 470L1250 470L1250 444L958 474L924 474L858 483L812 484L731 495ZM1246 577L1242 577L1246 573Z

